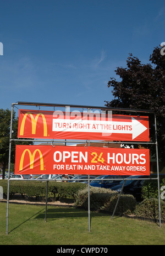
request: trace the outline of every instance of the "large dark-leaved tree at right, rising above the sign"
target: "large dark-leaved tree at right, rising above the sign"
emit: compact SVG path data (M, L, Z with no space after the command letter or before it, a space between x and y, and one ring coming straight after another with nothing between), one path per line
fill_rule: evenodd
M150 55L150 64L129 54L127 67L117 67L117 81L113 77L108 87L113 88L114 99L106 101L107 107L153 110L157 117L157 136L160 160L164 160L165 149L165 55L156 47ZM123 113L123 112L122 112ZM130 112L129 112L130 114ZM146 114L150 120L150 139L155 141L155 122L153 114ZM152 154L155 149L151 148Z

